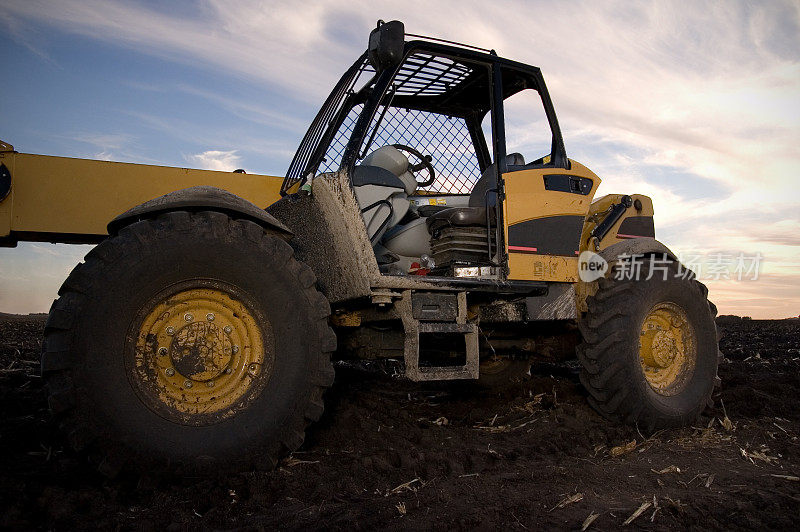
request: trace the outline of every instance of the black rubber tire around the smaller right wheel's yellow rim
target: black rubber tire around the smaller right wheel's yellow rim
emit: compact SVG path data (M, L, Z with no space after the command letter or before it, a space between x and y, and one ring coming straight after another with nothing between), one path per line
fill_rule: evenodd
M666 279L661 273L649 280L599 279L597 292L587 299L588 313L579 323L580 379L589 403L608 419L650 433L693 423L712 404L711 394L719 384L717 309L707 300L703 284L693 275L676 276L678 271L678 265L671 263ZM642 272L648 268L642 267ZM682 365L686 370L678 373L681 377L671 387L659 391L645 377L640 336L645 336L645 319L662 306L684 313L696 355L693 364Z

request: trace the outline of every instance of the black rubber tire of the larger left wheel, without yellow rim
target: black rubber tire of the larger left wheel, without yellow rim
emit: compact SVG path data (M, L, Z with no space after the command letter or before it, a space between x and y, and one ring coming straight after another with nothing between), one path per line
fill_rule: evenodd
M336 336L315 283L283 239L217 212L166 213L103 241L64 282L45 328L42 372L70 445L108 475L123 467L274 467L302 444L333 382ZM221 414L182 421L169 405L148 403L131 360L140 349L137 323L154 298L193 286L216 287L243 302L271 367L248 378L247 394Z

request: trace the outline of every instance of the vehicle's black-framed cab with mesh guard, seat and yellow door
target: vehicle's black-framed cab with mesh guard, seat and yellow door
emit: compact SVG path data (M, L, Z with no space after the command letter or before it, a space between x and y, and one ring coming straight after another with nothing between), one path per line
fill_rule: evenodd
M403 43L402 24L391 22L371 45L397 48L392 32ZM345 73L282 193L346 173L384 274L575 281L600 180L567 159L540 70L432 40L400 48L383 63L381 50L368 50ZM549 153L526 154L527 163L506 149L504 102L522 91L549 126Z

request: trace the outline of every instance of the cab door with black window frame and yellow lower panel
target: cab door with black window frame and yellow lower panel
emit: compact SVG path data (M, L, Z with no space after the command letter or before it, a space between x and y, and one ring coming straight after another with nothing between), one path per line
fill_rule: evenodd
M535 90L551 131L549 160L525 166L506 162L504 101ZM494 62L492 135L497 161L498 249L504 278L576 282L581 230L599 178L566 155L550 95L536 67L506 60Z

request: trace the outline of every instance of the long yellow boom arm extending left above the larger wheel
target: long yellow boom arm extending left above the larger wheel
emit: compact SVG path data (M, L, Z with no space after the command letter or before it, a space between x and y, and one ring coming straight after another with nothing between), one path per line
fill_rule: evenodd
M163 194L212 185L267 207L283 178L143 164L0 153L11 171L11 194L0 202L0 236L11 231L105 235L131 207Z

